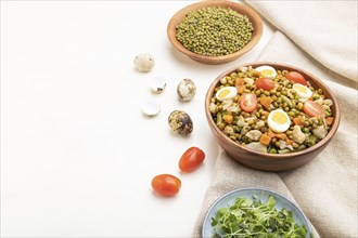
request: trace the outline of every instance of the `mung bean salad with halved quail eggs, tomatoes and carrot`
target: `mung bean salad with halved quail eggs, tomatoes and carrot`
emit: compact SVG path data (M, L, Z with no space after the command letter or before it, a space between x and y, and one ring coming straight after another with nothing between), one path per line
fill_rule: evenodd
M220 79L209 109L217 127L251 149L286 154L329 132L333 102L296 71L241 67Z

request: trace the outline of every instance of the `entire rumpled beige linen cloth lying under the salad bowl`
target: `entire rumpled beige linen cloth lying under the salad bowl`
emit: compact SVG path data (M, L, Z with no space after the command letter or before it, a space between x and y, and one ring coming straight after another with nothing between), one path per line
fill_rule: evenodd
M332 6L320 2L322 8L314 8L316 3L307 1L302 1L299 8L297 2L248 2L279 29L258 61L297 66L320 78L337 97L342 113L340 128L317 158L287 172L250 169L221 150L195 224L194 237L201 237L204 216L217 198L232 189L253 186L272 189L295 201L311 222L316 237L358 237L357 11L353 13L357 10L357 2L330 1ZM284 10L283 16L276 15L272 8ZM299 9L299 13L306 15L301 15L299 22L295 19L296 25L293 25L290 14L297 15L293 13ZM344 27L330 28L330 35L321 32L321 26L331 21L330 14L337 12L340 17L349 16L340 19L338 25ZM315 24L307 25L312 22ZM343 32L346 30L348 35Z

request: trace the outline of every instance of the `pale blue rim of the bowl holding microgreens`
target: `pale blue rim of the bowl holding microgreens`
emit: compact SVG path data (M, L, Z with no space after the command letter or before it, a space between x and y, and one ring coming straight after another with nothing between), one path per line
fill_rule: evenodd
M206 211L206 214L204 216L203 226L202 226L202 237L205 237L204 236L205 235L204 234L204 232L205 232L204 225L207 223L207 220L209 219L209 213L215 208L215 206L217 206L217 203L219 203L221 201L221 199L223 199L223 198L226 198L226 197L228 197L232 194L236 194L236 193L245 191L245 190L247 190L247 191L265 191L265 193L274 195L277 197L280 197L283 200L287 201L291 206L293 206L298 211L298 213L303 216L305 222L308 224L308 227L306 227L307 228L307 235L309 236L309 235L312 234L312 225L311 225L310 221L308 220L306 214L303 212L303 210L298 207L298 204L296 202L293 202L293 200L291 200L290 198L277 193L277 191L273 191L271 189L265 188L265 187L242 187L242 188L236 188L236 189L225 193L223 195L221 195L219 198L217 198L212 203L212 206L208 208L208 210Z

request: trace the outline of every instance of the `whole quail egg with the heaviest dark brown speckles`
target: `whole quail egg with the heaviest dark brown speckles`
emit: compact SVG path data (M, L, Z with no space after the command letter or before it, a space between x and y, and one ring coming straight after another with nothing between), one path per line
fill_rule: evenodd
M179 135L189 135L193 131L193 121L183 110L174 110L168 117L170 129Z

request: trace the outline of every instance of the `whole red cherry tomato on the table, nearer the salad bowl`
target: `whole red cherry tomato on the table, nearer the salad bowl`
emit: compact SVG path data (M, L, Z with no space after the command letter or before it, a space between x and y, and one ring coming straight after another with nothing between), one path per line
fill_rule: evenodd
M193 170L196 170L200 164L205 159L205 154L202 149L197 147L190 147L182 154L179 160L179 169L182 172L191 172Z

